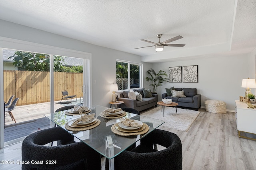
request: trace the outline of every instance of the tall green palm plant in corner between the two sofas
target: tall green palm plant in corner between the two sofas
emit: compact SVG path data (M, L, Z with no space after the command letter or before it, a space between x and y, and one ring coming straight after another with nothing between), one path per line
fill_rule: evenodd
M158 86L162 86L163 82L168 82L168 78L164 78L163 76L167 76L164 70L160 70L158 73L155 72L153 68L147 71L148 76L146 77L146 81L151 81L150 86L153 87L153 93L156 93L156 89Z

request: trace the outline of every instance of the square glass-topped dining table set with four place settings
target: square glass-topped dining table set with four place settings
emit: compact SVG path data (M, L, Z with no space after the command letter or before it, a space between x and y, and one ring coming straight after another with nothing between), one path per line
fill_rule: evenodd
M112 119L107 119L100 115L100 113L102 113L102 111L104 111L105 109L108 109L108 107L94 105L90 106L89 108L91 109L91 112L88 114L95 113L95 117L100 120L100 124L92 129L85 131L70 131L70 129L67 130L65 127L67 123L80 118L81 115L67 115L66 110L50 113L44 116L50 119L56 125L68 131L68 133L73 135L75 138L79 139L80 141L106 157L106 161L107 159L109 161L110 170L114 169L113 158L115 156L134 145L137 141L148 135L150 132L154 131L154 129L156 129L165 122L162 120L126 112L126 115L123 118L134 119L145 123L146 125L148 125L148 131L142 135L123 136L113 133L111 129L113 125L120 122L120 118L113 117Z

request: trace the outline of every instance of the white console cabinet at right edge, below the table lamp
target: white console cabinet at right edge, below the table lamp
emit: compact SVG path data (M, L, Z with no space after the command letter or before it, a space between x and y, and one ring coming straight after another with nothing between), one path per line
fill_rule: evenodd
M247 108L247 104L236 100L236 126L238 136L246 139L252 139L241 136L241 132L256 134L256 108ZM256 139L252 139L256 140Z

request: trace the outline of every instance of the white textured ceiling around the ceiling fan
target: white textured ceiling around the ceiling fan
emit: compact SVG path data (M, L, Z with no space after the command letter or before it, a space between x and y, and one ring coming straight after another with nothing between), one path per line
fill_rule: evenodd
M256 47L256 0L1 0L0 19L161 62ZM134 49L177 35L184 47ZM231 50L231 51L230 51ZM230 52L229 52L230 51Z

